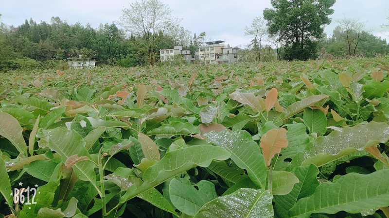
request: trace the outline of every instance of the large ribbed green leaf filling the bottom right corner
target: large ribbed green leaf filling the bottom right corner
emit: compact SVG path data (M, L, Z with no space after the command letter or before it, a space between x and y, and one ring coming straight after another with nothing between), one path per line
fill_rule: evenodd
M389 170L368 175L350 173L334 183L321 183L310 197L299 200L290 209L292 217L308 217L312 213L335 214L339 211L359 213L389 205Z

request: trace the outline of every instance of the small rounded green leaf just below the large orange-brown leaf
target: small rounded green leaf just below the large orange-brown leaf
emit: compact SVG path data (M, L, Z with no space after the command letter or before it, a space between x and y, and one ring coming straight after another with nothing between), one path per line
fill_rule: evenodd
M295 175L287 171L272 171L271 173L271 193L273 195L286 195L299 182Z

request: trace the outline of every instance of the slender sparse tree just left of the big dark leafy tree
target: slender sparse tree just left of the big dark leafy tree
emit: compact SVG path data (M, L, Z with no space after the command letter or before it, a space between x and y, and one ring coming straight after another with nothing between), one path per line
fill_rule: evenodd
M245 34L254 37L254 40L251 42L258 43L258 60L261 61L262 39L267 34L265 20L261 17L255 17L251 23L251 27L249 28L246 26Z

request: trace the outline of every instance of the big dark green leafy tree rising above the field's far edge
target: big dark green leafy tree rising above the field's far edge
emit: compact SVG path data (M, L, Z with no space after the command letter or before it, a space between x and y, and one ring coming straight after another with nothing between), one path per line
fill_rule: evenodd
M308 60L317 56L317 40L330 24L335 0L271 0L264 10L270 36L283 41L284 59Z

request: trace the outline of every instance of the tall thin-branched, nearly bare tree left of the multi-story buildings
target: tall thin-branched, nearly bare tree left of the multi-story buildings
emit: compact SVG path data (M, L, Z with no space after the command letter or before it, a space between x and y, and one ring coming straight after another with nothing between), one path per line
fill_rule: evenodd
M159 0L140 0L123 9L120 24L124 29L143 40L147 47L149 62L155 62L155 53L162 35L179 23L172 16L169 6Z

